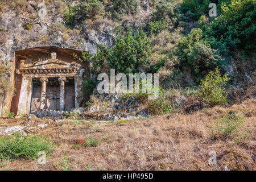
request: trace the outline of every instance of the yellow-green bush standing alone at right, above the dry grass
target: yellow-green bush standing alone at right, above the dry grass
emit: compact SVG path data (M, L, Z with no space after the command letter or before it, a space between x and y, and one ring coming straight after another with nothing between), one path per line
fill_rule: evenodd
M200 84L200 94L203 100L212 106L224 104L227 101L228 93L225 88L229 80L228 74L221 76L218 67L215 72L210 71Z

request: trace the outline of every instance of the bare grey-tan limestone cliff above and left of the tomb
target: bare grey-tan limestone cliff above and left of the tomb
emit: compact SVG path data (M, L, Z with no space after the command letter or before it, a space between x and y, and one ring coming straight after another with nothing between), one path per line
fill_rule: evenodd
M42 3L43 2L43 3ZM59 47L95 53L97 45L112 46L112 30L123 24L141 25L150 14L147 1L138 7L138 13L120 22L108 18L88 20L75 28L65 26L64 11L77 1L0 1L0 63L11 68L6 73L14 85L15 52L38 47ZM0 109L5 109L7 96L0 98ZM9 98L11 100L11 98ZM9 101L10 102L10 101Z

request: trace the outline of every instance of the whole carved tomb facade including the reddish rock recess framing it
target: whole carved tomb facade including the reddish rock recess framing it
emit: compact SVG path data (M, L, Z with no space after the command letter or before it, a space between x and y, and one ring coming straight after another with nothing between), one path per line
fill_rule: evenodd
M57 59L56 52L50 52L54 49L62 60ZM47 110L71 111L81 105L82 77L90 76L89 65L77 62L72 50L68 51L44 48L42 55L51 55L46 60L42 57L33 60L32 49L17 53L13 74L16 94L12 97L10 111L18 115Z

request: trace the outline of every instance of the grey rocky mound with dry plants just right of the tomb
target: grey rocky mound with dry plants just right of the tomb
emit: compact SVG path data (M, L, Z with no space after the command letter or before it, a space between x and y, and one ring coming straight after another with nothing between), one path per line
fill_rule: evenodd
M80 114L85 119L119 121L150 116L146 105L139 102L135 96L123 101L120 94L98 94L94 90L94 94L87 104L88 106Z

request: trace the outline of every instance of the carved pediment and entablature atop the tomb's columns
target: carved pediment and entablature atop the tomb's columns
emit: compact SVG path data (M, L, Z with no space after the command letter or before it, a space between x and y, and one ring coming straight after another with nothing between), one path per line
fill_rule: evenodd
M16 73L27 77L60 77L79 75L80 64L75 62L67 63L56 59L56 53L51 53L51 59L37 61L32 64L25 64L24 60L20 61L20 69Z

